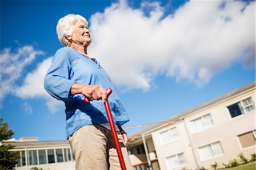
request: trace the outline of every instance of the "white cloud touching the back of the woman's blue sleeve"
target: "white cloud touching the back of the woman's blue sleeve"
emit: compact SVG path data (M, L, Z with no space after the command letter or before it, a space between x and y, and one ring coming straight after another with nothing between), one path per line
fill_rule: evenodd
M61 108L63 102L51 97L44 90L44 76L52 63L52 57L48 57L42 63L38 64L34 72L28 73L24 79L23 85L15 89L15 95L20 98L44 98L48 109L55 113Z

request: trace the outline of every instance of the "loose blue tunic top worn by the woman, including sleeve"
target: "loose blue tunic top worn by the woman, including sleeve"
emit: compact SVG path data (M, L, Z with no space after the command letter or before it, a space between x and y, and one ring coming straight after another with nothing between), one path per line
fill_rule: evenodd
M51 96L65 103L67 138L82 126L94 123L107 123L104 103L84 102L84 95L70 93L73 84L101 85L104 89L111 88L108 97L114 122L121 126L129 121L121 99L113 88L108 73L96 59L88 57L69 47L60 48L54 55L52 64L44 78L44 88Z

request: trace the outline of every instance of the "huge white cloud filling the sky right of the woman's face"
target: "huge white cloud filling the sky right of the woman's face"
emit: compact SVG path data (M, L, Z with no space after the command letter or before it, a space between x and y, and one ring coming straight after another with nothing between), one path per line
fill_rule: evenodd
M255 63L254 6L189 1L164 16L158 2L119 1L90 18L89 54L126 89L148 90L159 74L202 86L234 62Z

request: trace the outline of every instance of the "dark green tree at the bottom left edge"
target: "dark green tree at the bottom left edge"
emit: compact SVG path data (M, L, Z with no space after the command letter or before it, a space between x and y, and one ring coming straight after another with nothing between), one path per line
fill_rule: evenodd
M6 145L3 140L10 139L13 136L13 130L10 130L8 123L3 123L3 119L0 120L0 169L13 169L15 164L18 163L19 153L11 152L14 148L10 144Z

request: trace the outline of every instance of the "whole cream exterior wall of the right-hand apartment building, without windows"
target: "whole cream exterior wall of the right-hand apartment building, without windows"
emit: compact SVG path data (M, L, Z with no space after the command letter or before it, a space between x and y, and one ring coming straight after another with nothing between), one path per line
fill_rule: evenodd
M175 169L182 169L183 167L196 169L196 161L199 164L199 167L204 166L204 168L210 168L210 164L214 164L215 162L221 166L222 163L227 164L229 163L229 160L233 160L234 158L237 159L237 155L240 153L243 153L247 159L250 159L250 154L255 152L255 145L247 148L241 148L237 136L245 132L255 130L255 110L232 118L227 106L249 97L251 97L255 105L254 94L255 89L237 97L230 98L225 102L220 102L208 109L193 113L189 117L185 117L184 121L181 120L180 122L176 122L176 124L162 127L159 130L152 132L152 140L154 142L160 169L168 169L166 158L180 153L184 153L186 164ZM206 114L211 115L213 126L203 131L192 133L191 121ZM189 136L187 135L185 125L188 128ZM179 139L162 144L160 141L160 132L173 127L177 128L179 132ZM195 152L195 157L193 156L189 137L191 139L193 151ZM200 160L199 148L214 142L221 143L224 154L211 157L207 160Z

